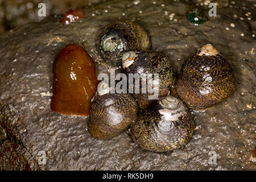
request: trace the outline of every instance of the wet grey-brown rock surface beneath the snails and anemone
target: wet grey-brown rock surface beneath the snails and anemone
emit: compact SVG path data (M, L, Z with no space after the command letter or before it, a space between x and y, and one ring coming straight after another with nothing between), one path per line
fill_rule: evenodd
M220 1L217 17L195 26L186 13L196 2L111 0L84 7L85 18L69 25L61 24L60 16L49 17L2 35L0 125L4 131L0 155L9 152L5 148L15 148L8 154L18 155L20 163L15 167L7 160L0 163L1 169L255 170L256 5L252 1ZM208 8L207 3L197 3ZM118 19L141 24L151 36L152 49L163 51L175 71L189 54L207 43L232 65L235 92L220 104L192 111L198 129L183 148L166 153L145 151L127 133L97 140L87 131L88 117L51 111L48 93L52 92L52 64L57 53L67 44L80 44L97 64L97 72L108 72L98 39L106 24ZM5 133L19 143L5 139ZM216 154L216 163L209 152Z

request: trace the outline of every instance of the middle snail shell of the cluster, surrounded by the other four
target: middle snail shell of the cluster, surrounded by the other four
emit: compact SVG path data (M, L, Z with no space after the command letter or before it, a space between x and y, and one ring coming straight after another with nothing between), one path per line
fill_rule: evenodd
M154 73L158 73L158 97L167 96L170 93L170 86L175 81L171 60L164 56L163 53L156 51L129 51L124 53L122 56L122 72L127 77L129 77L129 73L138 73L139 75L148 75L148 73L154 75ZM152 83L152 86L154 86L154 83ZM152 95L152 93L142 93L142 80L140 80L139 88L140 92L133 93L133 96L139 106L144 109L152 102L152 100L148 99L148 96Z

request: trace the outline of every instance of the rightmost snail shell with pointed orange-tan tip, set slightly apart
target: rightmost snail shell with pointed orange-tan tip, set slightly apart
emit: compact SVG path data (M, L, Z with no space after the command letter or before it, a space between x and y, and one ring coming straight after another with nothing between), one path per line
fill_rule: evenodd
M211 44L190 55L177 80L177 94L189 107L208 107L232 94L236 88L234 72Z

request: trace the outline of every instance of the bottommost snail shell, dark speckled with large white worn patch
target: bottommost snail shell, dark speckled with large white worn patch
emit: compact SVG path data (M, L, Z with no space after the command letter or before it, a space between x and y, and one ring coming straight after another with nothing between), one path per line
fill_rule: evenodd
M167 96L152 102L131 125L134 142L149 151L166 152L191 138L195 122L183 102Z

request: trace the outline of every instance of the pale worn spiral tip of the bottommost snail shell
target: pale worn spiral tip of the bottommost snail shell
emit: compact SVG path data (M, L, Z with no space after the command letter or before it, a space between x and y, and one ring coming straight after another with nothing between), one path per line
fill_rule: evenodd
M159 109L159 113L167 121L177 121L179 117L185 114L185 107L176 97L164 97L159 101L159 104L163 107L163 109Z

